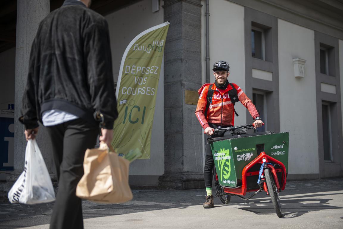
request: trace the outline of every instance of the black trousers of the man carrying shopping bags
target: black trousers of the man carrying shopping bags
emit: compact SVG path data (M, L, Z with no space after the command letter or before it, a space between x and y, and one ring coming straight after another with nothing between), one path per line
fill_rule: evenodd
M94 148L99 128L83 119L46 127L58 179L58 193L50 220L51 229L82 229L81 199L76 185L83 175L83 158L87 148Z

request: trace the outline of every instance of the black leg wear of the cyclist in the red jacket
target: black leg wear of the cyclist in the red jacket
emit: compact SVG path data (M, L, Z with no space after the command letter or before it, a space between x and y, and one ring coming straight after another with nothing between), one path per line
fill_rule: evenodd
M217 128L218 125L209 123L210 127ZM228 126L221 126L223 128L226 128ZM219 132L215 135L212 135L212 137L223 137L231 135L229 131L227 132ZM209 136L205 134L205 165L204 165L204 180L205 180L205 187L212 187L212 180L213 180L213 167L214 167L214 160L212 156L211 151L211 145L207 144L207 138Z

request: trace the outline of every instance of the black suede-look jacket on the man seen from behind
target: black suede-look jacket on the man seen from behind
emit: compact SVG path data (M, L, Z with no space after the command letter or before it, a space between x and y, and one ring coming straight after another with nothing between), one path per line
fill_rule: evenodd
M40 22L33 41L27 85L19 118L26 129L42 122L42 113L59 109L102 127L113 128L118 116L112 75L108 24L75 0L64 1Z

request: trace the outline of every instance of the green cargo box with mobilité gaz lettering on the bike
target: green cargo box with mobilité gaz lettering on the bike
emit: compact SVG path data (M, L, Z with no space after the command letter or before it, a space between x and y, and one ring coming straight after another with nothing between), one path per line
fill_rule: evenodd
M240 186L243 168L256 158L261 151L282 162L286 167L287 174L288 132L275 134L263 132L258 133L258 135L249 134L246 137L245 135L230 137L225 140L213 138L214 142L211 145L220 185L227 187ZM258 171L260 165L257 164L252 170ZM247 179L247 183L250 182L251 185L256 186L258 175L251 176L249 179ZM247 186L249 187L249 184Z

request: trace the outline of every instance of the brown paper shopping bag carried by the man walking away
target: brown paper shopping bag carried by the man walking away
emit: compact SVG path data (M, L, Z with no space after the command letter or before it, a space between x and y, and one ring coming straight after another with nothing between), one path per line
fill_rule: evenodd
M112 147L101 142L98 149L87 149L84 175L76 187L76 196L100 203L123 203L133 198L129 186L129 164Z

